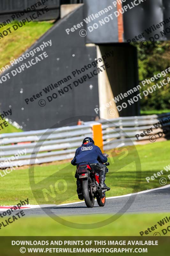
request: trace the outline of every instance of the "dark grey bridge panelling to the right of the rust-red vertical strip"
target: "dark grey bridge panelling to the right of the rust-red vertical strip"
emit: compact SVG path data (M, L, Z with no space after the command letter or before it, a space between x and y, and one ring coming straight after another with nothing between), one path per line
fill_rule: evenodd
M126 0L123 6L130 4L130 2L131 0ZM145 29L152 25L156 26L168 18L170 18L169 0L147 0L130 10L128 9L127 12L123 14L124 40L131 40L143 32L144 37L139 41L149 40L149 38L154 37L155 34L159 34L159 40L170 40L170 32L167 33L166 36L161 36L160 34L160 31L170 28L170 22L152 31L149 35L145 32Z

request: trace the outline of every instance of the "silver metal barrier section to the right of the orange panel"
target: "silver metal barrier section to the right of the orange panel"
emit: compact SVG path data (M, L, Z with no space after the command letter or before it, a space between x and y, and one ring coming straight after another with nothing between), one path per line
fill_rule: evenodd
M166 120L166 123L160 125L160 128L156 129L153 124L157 124L161 120ZM114 122L114 125L112 122ZM102 124L104 150L116 148L119 145L130 146L145 144L153 142L154 140L166 140L165 137L167 137L168 133L170 133L170 113L159 116L148 115L119 117L108 121L101 120L100 123ZM151 128L152 131L150 130ZM166 129L166 135L162 133L163 129ZM147 135L144 135L144 137L139 136L137 139L137 134L140 135L147 130L150 130L149 133L146 132ZM161 138L158 135L159 132L161 132ZM152 138L150 138L151 135L154 135L154 137L152 136Z

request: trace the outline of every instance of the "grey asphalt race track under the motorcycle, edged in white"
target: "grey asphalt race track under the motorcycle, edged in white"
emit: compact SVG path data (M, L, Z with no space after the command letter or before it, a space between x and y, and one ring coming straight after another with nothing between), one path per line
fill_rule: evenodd
M104 207L99 207L97 202L93 208L87 208L84 201L55 206L44 206L35 209L24 209L26 216L45 215L55 213L58 216L78 214L107 214L117 212L170 212L170 185L162 188L145 190L132 195L107 198Z

